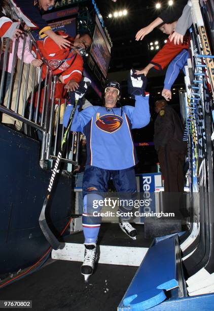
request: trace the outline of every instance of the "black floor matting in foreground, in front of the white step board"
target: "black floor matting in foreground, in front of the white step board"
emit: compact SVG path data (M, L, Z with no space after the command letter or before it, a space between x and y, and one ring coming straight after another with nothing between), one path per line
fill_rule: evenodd
M138 268L99 264L85 284L80 266L80 262L55 261L3 288L1 300L32 300L35 311L113 311Z

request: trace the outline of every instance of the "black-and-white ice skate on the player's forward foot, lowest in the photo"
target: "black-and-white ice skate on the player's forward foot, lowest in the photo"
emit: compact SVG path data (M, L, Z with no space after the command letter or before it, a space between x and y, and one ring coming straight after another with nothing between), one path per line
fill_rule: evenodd
M84 243L85 256L81 266L81 273L84 275L85 282L88 281L89 276L93 273L94 263L96 261L96 244Z

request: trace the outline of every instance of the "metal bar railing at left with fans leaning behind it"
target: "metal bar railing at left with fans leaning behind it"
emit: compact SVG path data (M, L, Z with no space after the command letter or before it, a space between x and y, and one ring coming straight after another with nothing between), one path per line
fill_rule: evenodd
M18 131L29 135L29 128L34 129L41 141L40 164L46 166L46 160L55 160L61 145L64 128L62 116L66 109L66 100L55 102L55 87L58 77L53 75L47 61L44 60L39 48L29 33L23 35L21 55L19 39L13 40L13 56L9 52L11 40L6 38L5 51L1 46L1 74L0 74L0 112L2 123L14 124ZM40 68L24 63L24 53L28 48L35 58L42 58L45 64ZM9 63L12 61L10 81L8 80ZM61 118L60 118L61 116ZM23 125L22 125L23 123ZM22 126L21 126L22 125ZM26 127L26 126L28 127ZM26 129L28 128L28 130ZM69 143L65 157L61 160L78 165L80 133L69 133ZM71 167L72 169L72 167ZM71 169L69 169L71 171Z

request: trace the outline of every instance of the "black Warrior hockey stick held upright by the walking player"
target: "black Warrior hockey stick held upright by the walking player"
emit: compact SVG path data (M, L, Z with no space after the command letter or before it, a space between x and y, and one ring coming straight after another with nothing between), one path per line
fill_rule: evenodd
M86 82L87 86L90 85L90 80L87 78L84 78L84 81ZM90 82L89 82L90 81ZM81 82L80 82L81 83ZM86 88L87 89L87 88ZM53 173L51 175L51 179L50 179L50 183L48 185L48 190L47 190L47 194L43 203L43 208L42 211L40 213L40 217L39 217L39 224L40 224L40 228L42 229L42 232L46 238L46 240L49 242L49 244L51 245L52 248L54 248L54 250L58 250L58 248L63 248L64 247L64 243L63 242L59 242L59 240L56 238L56 236L53 234L53 232L51 231L51 229L48 226L48 223L46 221L46 217L45 217L45 211L46 208L48 206L48 203L50 201L50 197L52 194L52 189L53 189L53 184L55 182L55 176L56 176L56 172L57 169L59 167L59 163L60 163L60 159L62 158L63 153L66 150L66 145L67 145L67 137L68 137L68 133L70 131L70 128L72 126L72 122L74 119L74 115L78 106L78 102L79 102L79 98L81 98L82 96L78 94L78 90L75 92L75 104L73 106L72 112L70 113L70 117L67 123L67 127L62 139L62 143L61 143L61 150L59 151L58 155L57 155L57 160L53 169Z

